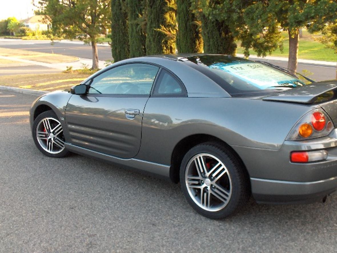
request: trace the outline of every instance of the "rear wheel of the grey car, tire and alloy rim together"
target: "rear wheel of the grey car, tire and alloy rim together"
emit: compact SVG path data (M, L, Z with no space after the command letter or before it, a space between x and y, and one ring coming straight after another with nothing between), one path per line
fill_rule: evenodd
M249 177L242 162L216 143L199 144L185 154L180 184L193 209L210 219L237 213L250 196Z

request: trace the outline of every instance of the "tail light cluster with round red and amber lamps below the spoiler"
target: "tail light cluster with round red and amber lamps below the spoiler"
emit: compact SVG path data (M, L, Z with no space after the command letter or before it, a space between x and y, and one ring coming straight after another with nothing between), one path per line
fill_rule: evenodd
M334 124L323 109L317 109L305 114L293 127L286 140L307 140L327 136Z

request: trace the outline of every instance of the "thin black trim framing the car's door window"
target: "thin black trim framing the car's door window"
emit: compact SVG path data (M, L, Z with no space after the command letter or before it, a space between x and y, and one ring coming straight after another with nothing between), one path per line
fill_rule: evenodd
M100 94L100 93L89 93L89 89L90 89L91 84L93 83L94 78L100 76L101 74L103 74L103 73L105 73L107 71L110 71L113 68L120 67L120 66L123 66L123 65L128 65L128 64L137 64L137 63L152 65L152 66L156 66L156 67L159 68L158 72L156 74L156 77L154 78L154 81L153 81L153 84L152 84L152 87L150 89L150 93L149 94ZM162 67L160 65L152 64L151 62L144 62L144 61L126 62L126 63L118 64L116 66L108 67L104 71L102 71L100 73L97 73L96 75L94 75L93 77L91 77L89 80L85 80L82 84L86 84L86 83L89 82L88 88L87 88L87 92L88 93L86 94L87 96L97 96L97 97L150 97L151 96L151 92L153 90L153 87L155 85L155 82L156 82L156 80L157 80L157 78L159 76L158 74L161 71L161 68Z

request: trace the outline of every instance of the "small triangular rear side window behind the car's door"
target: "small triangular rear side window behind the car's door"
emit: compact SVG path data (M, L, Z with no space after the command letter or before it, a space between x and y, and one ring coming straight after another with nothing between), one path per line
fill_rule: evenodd
M153 94L157 96L185 96L186 91L176 77L163 69L160 72Z

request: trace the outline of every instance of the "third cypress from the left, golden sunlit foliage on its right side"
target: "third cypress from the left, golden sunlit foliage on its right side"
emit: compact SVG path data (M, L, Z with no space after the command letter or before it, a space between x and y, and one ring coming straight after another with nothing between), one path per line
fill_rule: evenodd
M176 52L175 0L147 0L146 54Z

